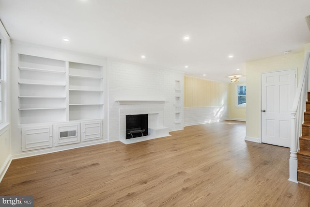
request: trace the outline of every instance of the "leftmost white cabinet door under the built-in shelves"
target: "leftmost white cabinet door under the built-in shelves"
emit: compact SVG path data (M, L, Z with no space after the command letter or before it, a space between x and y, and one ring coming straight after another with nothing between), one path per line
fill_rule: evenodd
M52 125L22 128L22 151L43 149L52 146Z

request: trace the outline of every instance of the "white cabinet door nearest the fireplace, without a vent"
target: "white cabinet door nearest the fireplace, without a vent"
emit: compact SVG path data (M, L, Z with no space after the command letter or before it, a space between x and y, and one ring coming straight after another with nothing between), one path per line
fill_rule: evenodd
M102 120L81 123L82 142L102 139Z

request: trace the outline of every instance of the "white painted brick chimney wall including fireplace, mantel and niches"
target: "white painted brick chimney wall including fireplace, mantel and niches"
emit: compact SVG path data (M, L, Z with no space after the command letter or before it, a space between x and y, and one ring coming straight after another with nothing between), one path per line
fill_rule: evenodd
M181 89L177 92L176 80L179 80ZM183 80L182 72L109 58L109 142L125 142L126 114L149 114L148 123L152 128L148 131L152 135L159 135L161 128L169 131L182 130ZM176 103L176 96L180 103ZM179 115L178 120L176 112ZM166 134L168 135L168 132ZM140 139L150 137L143 136ZM132 139L127 139L126 142Z

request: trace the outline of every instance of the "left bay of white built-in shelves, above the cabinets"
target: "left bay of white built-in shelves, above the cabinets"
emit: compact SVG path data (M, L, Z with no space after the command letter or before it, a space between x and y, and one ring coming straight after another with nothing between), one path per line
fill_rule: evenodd
M19 123L65 121L65 62L23 54L18 58Z

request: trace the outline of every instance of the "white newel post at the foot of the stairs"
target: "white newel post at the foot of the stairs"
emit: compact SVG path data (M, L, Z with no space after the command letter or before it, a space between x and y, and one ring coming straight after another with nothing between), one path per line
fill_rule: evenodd
M295 119L296 119L296 111L295 109L290 110L291 113L291 155L290 155L290 178L289 181L298 183L297 180L297 138L296 138L296 127L295 127Z

